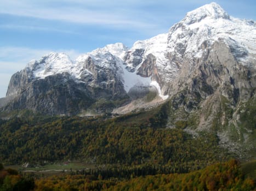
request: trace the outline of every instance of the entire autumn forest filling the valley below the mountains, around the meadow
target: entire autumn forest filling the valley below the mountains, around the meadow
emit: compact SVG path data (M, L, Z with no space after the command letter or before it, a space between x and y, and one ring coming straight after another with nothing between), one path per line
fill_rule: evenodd
M217 135L191 135L166 123L165 105L117 117L45 117L24 111L2 119L4 166L79 161L93 167L44 175L1 165L0 190L255 189L250 169L255 163L243 171L236 156L219 146Z

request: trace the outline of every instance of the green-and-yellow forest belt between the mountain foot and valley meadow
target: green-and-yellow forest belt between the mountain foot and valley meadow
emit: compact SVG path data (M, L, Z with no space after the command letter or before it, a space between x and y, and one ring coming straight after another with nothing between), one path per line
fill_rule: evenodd
M135 117L140 118L136 123ZM0 160L4 165L65 160L129 166L150 164L169 166L168 172L183 173L230 158L219 147L217 136L202 133L193 137L183 129L156 127L157 120L154 114L2 120Z

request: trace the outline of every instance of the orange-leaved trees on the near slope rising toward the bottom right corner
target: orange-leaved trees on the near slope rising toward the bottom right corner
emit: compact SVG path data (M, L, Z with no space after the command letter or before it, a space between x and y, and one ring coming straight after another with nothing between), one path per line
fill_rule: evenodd
M139 190L139 188L151 190L152 186L159 188L156 190L253 190L256 186L255 182L242 177L237 162L230 160L188 174L134 178L119 183L117 186L111 187L110 190L115 188L118 188L118 190Z

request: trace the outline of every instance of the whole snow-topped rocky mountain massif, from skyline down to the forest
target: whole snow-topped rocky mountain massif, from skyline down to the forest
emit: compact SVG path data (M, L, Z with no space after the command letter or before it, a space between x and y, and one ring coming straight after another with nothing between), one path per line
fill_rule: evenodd
M216 3L190 11L168 33L106 45L72 61L49 53L10 80L2 111L124 114L168 103L167 127L214 130L235 150L255 140L256 23ZM254 124L254 125L253 125ZM237 142L240 142L237 146Z

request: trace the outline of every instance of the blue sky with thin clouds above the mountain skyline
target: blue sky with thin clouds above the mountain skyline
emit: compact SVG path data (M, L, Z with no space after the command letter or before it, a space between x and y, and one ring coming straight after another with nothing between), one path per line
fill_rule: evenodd
M131 47L168 32L188 11L212 1L0 0L0 97L31 59L66 52L72 59L106 44ZM255 0L221 0L231 16L256 21Z

